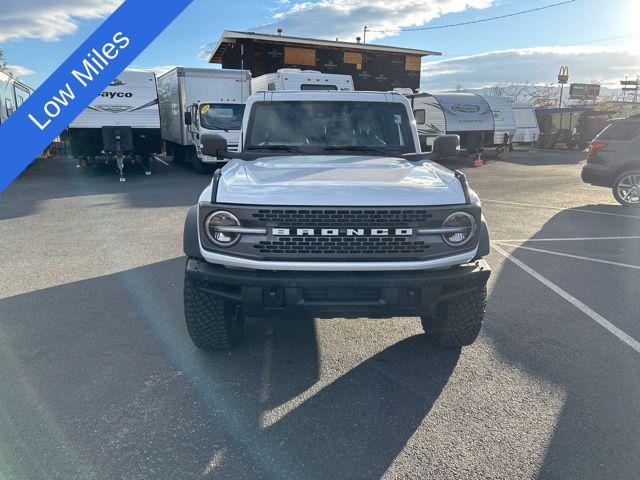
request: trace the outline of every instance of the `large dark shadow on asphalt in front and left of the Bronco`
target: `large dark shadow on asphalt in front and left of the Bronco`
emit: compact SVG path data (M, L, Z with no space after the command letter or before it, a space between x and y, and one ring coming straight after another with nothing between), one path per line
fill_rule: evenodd
M314 321L250 321L233 351L199 351L184 262L0 301L6 478L379 478L457 364L418 335L301 400Z

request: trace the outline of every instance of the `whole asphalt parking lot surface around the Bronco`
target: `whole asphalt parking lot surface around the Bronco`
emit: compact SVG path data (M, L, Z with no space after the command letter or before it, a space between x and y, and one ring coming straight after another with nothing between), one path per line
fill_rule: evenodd
M182 313L208 177L39 160L0 194L0 479L638 478L640 211L583 158L464 169L494 242L473 346L298 318L216 354Z

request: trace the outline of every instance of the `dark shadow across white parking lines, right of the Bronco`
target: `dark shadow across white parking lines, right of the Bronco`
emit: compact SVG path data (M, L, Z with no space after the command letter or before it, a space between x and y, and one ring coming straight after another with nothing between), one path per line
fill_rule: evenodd
M593 217L606 218L608 223L603 226L589 221ZM583 217L563 211L531 238L606 236L611 231L622 234L624 229L630 229L628 233L639 231L640 222L630 225L625 219L602 217ZM560 250L575 248L572 243L526 245ZM607 243L602 243L602 248L606 248ZM606 310L611 304L628 310L630 316L638 311L637 301L634 304L632 300L637 299L634 272L620 271L620 276L615 277L610 267L603 269L600 264L517 249L513 255L599 313L605 313L601 309ZM594 282L600 285L595 295ZM514 295L517 295L515 302ZM605 316L608 315L605 313ZM565 394L538 478L636 478L640 471L637 354L508 260L499 276L494 276L487 318L484 333L492 338L505 360L558 386ZM629 328L620 318L611 320L623 329Z

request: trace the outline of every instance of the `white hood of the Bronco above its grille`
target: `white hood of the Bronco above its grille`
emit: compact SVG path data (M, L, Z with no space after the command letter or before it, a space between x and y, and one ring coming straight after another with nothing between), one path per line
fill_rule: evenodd
M432 163L397 157L309 155L232 160L216 201L245 205L421 206L465 203L459 180Z

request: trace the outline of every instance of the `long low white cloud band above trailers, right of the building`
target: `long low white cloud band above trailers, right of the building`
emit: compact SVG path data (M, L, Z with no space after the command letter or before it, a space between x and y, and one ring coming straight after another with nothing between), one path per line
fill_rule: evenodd
M619 86L625 75L640 71L640 51L600 46L535 47L481 53L422 64L425 91L457 85L482 88L498 83L555 83L560 66L569 67L570 82L597 80Z

